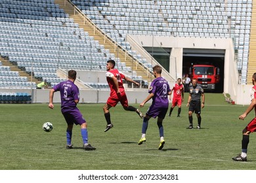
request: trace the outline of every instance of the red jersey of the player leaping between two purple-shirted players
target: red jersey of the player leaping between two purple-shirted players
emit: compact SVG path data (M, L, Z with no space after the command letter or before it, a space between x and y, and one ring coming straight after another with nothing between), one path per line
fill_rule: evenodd
M119 73L119 71L117 69L112 69L106 73L106 79L108 82L108 86L110 86L110 96L116 95L116 85L115 85L114 81L112 80L113 76L115 76L117 78L119 91L122 92L124 90L123 79L125 78L125 75Z

